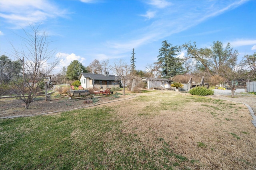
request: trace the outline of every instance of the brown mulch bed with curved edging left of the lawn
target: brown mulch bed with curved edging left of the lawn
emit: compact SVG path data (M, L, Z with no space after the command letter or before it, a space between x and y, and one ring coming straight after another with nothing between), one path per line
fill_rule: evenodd
M92 96L90 96L92 97ZM110 96L95 96L95 98L91 98L92 103L85 102L89 100L88 98L80 98L80 97L61 97L61 98L53 98L51 97L50 101L46 101L43 97L38 97L38 99L34 100L28 109L25 109L25 104L22 100L17 98L7 98L0 99L0 118L4 117L15 117L18 115L26 116L26 115L40 115L44 113L51 112L60 112L60 111L68 111L76 108L83 108L94 106L96 104L104 104L112 101L122 100L125 98L129 98L131 96L119 95L119 98ZM41 99L41 100L40 100Z

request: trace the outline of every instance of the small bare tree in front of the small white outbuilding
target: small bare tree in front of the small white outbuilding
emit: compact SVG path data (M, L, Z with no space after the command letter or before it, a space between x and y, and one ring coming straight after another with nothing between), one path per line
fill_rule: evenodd
M153 89L154 89L154 86L156 85L157 78L159 78L159 76L161 75L159 68L160 68L160 65L158 63L148 64L146 66L146 70L147 70L146 75L148 76Z

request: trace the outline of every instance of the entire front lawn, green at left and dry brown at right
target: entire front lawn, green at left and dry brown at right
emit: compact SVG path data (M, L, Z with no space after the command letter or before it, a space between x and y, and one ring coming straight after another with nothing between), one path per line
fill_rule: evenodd
M154 91L53 115L0 120L0 169L255 169L247 107Z

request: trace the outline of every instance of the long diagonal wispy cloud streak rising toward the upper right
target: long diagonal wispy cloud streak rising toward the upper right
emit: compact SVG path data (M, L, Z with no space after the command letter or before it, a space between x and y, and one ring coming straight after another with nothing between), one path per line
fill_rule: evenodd
M119 49L120 53L130 51L140 45L158 41L174 33L189 29L203 21L232 10L246 1L194 1L193 6L191 3L186 4L183 1L172 1L170 3L169 1L151 0L142 2L161 8L149 8L148 12L143 15L148 18L154 17L154 21L137 30L136 35L138 36L130 36L124 43L117 43L116 40L108 41L108 48ZM154 11L154 13L150 14L150 11ZM204 34L218 31L205 32Z

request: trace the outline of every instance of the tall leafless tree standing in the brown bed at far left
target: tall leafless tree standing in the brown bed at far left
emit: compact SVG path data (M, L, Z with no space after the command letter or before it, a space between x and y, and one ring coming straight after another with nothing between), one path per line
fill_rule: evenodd
M26 109L40 90L39 84L45 81L59 62L58 57L53 57L55 51L50 49L51 41L48 40L47 33L40 31L39 26L30 25L31 32L23 29L26 36L19 36L24 41L21 51L12 45L14 57L23 61L25 70L24 77L12 81L17 89L15 94L25 102Z

